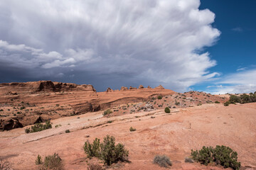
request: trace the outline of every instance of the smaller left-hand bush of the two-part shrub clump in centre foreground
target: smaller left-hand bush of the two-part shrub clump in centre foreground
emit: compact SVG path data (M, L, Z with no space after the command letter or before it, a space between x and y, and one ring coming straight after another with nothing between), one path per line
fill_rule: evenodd
M95 138L93 141L92 145L90 142L85 142L84 145L84 150L85 153L87 154L87 157L92 158L92 157L100 157L100 140Z

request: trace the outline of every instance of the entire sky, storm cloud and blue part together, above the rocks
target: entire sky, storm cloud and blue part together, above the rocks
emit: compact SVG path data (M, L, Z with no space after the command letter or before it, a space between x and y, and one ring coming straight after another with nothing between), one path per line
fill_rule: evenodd
M256 91L256 1L2 0L0 83Z

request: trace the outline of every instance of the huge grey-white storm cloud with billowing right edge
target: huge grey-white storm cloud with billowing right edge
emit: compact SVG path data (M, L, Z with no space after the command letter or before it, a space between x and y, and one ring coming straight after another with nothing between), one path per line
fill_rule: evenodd
M0 1L0 76L186 91L218 73L220 31L199 0Z

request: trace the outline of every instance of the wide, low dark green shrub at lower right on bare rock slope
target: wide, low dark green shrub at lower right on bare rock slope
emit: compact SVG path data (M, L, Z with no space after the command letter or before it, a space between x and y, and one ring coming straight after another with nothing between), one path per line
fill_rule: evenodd
M201 164L208 165L211 162L215 162L217 165L221 165L224 168L239 169L240 162L238 162L238 153L233 152L230 147L216 146L204 147L201 150L193 151L191 150L191 157Z

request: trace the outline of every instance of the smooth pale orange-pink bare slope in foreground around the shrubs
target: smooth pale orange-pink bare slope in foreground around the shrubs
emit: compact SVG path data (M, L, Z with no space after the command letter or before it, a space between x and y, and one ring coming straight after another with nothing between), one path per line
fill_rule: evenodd
M52 129L31 134L24 132L28 127L0 132L0 157L11 162L14 169L37 169L38 154L45 157L58 153L64 169L87 169L92 160L86 158L84 142L112 135L129 150L130 163L123 163L118 169L163 169L152 163L156 154L169 156L171 169L221 169L184 162L191 149L204 145L231 147L238 152L242 166L256 168L256 103L228 107L203 104L172 108L170 114L161 109L111 118L102 118L102 112L95 112L52 123ZM131 126L137 131L130 132Z

